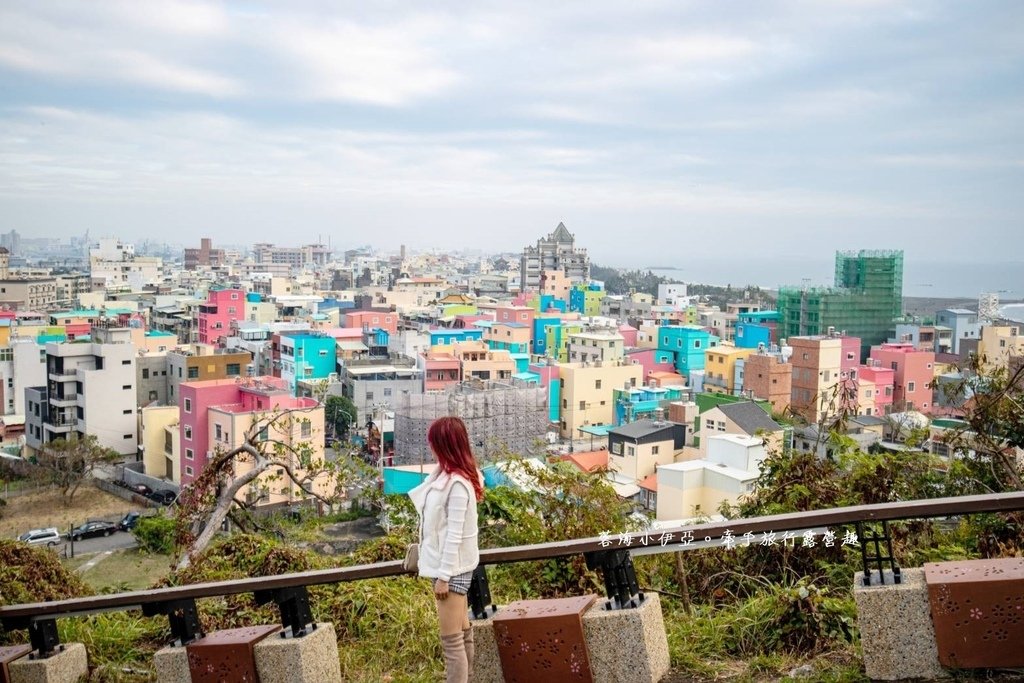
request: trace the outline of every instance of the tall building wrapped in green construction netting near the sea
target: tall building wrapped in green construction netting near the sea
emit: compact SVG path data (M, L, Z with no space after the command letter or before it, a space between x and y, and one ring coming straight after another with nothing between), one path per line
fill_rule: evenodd
M903 314L903 252L836 252L834 287L780 287L779 338L823 335L828 328L859 337L861 359L889 339Z

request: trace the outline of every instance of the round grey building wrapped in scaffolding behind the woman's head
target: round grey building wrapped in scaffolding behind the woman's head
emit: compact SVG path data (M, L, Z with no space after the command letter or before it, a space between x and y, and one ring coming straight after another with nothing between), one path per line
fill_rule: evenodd
M433 462L427 429L446 415L462 418L477 460L543 450L548 388L536 384L464 382L444 393L402 394L394 411L394 464Z

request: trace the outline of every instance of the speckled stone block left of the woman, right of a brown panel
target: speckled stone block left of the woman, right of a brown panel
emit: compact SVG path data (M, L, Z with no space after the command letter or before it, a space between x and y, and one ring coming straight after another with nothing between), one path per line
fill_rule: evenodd
M256 643L260 683L341 683L338 638L333 624L317 624L303 638L272 634Z

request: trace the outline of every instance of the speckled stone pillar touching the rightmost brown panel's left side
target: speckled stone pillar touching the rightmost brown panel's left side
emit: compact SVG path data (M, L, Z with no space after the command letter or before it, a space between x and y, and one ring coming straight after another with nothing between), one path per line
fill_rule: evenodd
M864 673L877 681L906 678L947 678L939 665L931 606L924 569L902 569L902 583L863 585L864 573L853 578L857 625L864 653Z

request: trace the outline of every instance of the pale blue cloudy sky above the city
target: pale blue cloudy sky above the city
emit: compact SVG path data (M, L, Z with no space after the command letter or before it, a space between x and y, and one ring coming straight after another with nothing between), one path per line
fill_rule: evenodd
M1019 0L7 0L0 229L1020 260L1022 35Z

